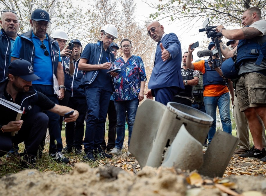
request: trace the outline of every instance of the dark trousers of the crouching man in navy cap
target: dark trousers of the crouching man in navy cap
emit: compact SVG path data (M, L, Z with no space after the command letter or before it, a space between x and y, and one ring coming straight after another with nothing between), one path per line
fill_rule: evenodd
M33 113L23 120L21 129L14 137L10 133L0 134L0 157L8 153L11 147L24 142L25 149L23 154L36 156L38 146L45 136L49 118L42 112Z

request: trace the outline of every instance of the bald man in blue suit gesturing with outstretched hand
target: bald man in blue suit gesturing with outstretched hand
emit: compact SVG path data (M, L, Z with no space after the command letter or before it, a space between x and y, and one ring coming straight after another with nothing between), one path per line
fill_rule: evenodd
M164 105L172 101L174 95L184 89L181 75L181 45L174 33L166 34L163 25L154 21L147 26L148 35L158 42L154 67L149 80L149 90L145 95L148 99L155 97ZM160 45L160 47L159 47Z

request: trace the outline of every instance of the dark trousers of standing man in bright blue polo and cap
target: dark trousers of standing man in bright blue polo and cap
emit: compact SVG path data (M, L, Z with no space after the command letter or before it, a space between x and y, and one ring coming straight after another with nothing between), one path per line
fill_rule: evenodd
M54 103L59 104L57 96L53 93L52 85L33 84L32 86L39 92L42 92L44 95L46 95ZM61 138L60 115L50 111L44 111L44 113L49 117L49 127L48 127L50 135L49 154L61 152L63 149L63 142ZM43 141L45 141L45 136L43 138ZM43 145L44 142L41 142L42 148Z

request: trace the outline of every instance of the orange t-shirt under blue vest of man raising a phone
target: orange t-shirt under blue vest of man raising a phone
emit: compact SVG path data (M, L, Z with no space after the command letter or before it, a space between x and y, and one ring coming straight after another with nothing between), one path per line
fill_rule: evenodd
M200 60L196 63L193 63L194 70L199 70L205 74L205 68L204 68L205 60ZM204 97L217 97L220 96L226 92L229 92L226 85L222 84L210 84L204 86L203 96Z

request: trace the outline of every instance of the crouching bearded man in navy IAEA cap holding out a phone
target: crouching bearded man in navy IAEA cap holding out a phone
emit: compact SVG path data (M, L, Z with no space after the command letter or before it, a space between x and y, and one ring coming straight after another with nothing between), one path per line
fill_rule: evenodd
M41 92L32 87L32 81L40 79L33 72L33 66L26 60L13 60L8 67L8 79L0 82L0 97L10 102L18 104L23 111L22 117L18 121L3 121L3 114L0 117L0 157L4 156L11 149L12 145L24 142L25 149L20 155L23 156L22 165L34 163L38 146L48 126L49 119L42 112L34 112L35 105L42 110L49 110L59 115L72 111L71 108L60 106L51 101ZM75 121L78 117L78 111L74 111L70 117L65 118L65 122ZM17 131L14 137L11 132ZM62 154L62 153L61 153ZM56 161L62 161L65 158L58 156ZM26 164L25 164L26 163ZM0 160L0 164L3 162Z

